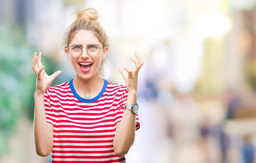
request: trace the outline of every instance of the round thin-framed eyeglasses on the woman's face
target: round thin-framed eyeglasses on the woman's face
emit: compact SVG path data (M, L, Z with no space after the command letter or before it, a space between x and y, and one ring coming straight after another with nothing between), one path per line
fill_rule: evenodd
M104 46L102 48L104 48ZM86 51L89 55L97 55L102 48L100 48L96 43L90 43L86 46ZM74 44L69 47L68 51L73 57L78 57L83 53L83 49L84 46Z

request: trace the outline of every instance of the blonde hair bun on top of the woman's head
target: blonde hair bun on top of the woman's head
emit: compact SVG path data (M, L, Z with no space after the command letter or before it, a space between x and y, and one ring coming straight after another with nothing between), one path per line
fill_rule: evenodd
M94 8L88 8L77 12L76 19L85 19L85 20L98 20L99 14L98 11Z

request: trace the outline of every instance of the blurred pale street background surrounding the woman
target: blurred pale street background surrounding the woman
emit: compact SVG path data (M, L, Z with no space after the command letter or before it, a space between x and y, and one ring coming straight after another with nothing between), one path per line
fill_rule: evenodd
M34 51L56 85L76 9L94 7L124 83L137 49L141 128L128 163L256 163L256 0L0 0L0 163L50 163L33 144Z

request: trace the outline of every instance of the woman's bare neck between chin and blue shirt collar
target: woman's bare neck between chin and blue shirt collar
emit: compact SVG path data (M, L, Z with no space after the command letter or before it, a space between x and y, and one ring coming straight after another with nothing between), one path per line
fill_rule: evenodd
M87 80L81 79L81 77L76 74L73 85L80 96L90 97L95 94L97 95L102 90L104 80L99 77L99 72Z

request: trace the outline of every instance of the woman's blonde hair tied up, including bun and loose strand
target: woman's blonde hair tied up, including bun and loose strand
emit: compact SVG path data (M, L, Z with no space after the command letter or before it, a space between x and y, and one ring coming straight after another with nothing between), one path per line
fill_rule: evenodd
M64 36L64 47L69 47L70 41L79 30L93 31L99 42L102 43L103 47L109 46L108 36L101 24L99 23L98 18L98 11L94 8L76 11L76 20L73 21ZM103 78L105 77L105 65L106 57L104 60L102 60L102 63L99 67L99 75Z

